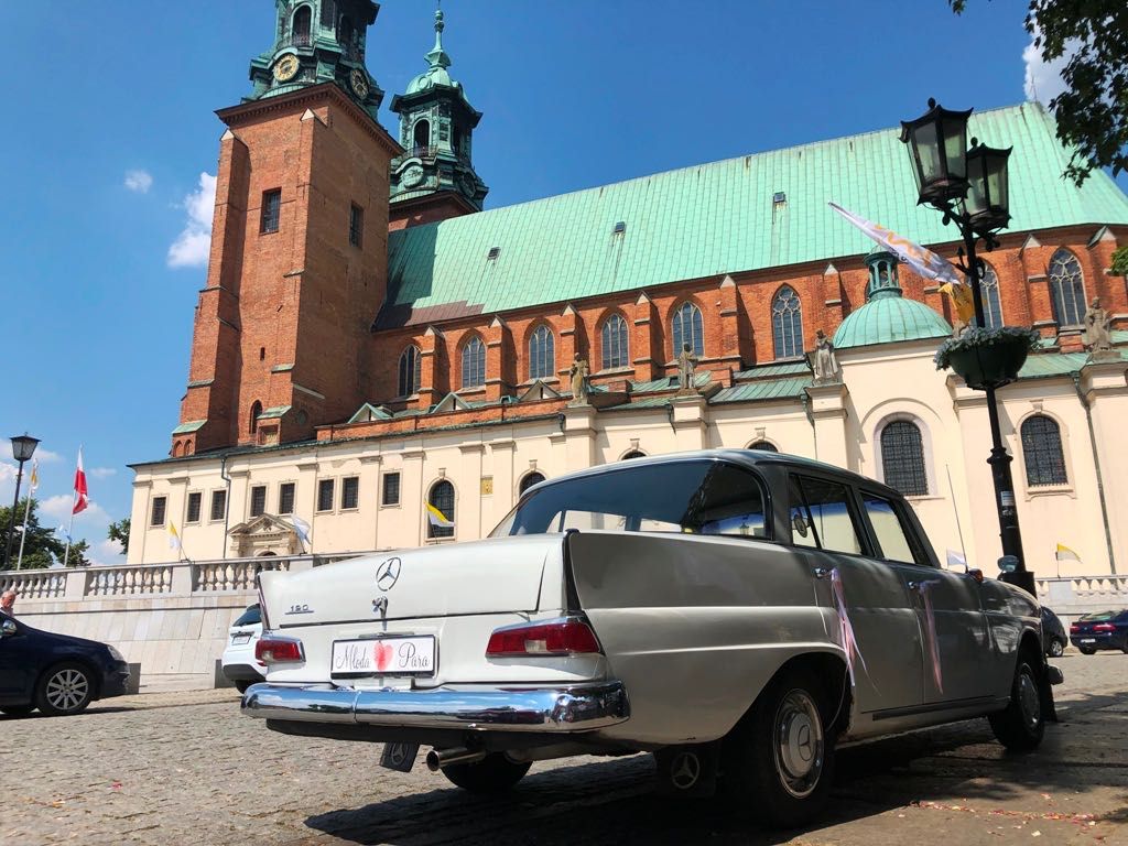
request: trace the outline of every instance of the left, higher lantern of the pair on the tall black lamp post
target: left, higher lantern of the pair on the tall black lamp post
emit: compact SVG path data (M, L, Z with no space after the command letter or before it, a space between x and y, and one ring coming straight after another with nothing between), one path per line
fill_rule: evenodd
M937 208L968 193L968 117L928 100L928 111L915 121L901 121L901 141L908 144L917 182L917 205Z

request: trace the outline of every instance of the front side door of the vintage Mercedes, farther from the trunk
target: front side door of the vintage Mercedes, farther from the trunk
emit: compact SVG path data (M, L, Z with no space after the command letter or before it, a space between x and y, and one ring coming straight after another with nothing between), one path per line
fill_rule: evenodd
M920 626L925 704L990 695L993 646L979 582L936 566L906 503L875 491L860 495L875 554L899 574Z

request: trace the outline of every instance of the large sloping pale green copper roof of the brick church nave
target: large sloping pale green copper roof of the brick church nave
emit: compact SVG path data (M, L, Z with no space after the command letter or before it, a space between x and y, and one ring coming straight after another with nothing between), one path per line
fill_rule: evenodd
M1128 197L1104 173L1081 188L1060 178L1068 153L1040 105L972 115L970 132L1014 146L1012 230L1128 223ZM378 326L866 253L872 241L827 206L831 200L919 243L953 241L938 213L916 205L898 133L761 152L393 232ZM778 192L786 199L777 203ZM626 229L615 233L619 221Z

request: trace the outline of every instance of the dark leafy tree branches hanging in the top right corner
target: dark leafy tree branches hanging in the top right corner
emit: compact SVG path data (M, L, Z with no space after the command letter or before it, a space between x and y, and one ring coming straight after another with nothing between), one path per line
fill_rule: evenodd
M967 0L948 0L960 15ZM1066 90L1050 100L1058 139L1073 150L1063 176L1081 185L1093 168L1128 170L1128 2L1030 0L1026 32L1042 61L1068 54Z

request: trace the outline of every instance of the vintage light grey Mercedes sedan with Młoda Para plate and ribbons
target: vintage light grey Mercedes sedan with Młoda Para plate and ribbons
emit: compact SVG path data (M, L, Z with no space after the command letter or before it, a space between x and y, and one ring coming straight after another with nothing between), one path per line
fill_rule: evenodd
M246 715L385 743L478 792L532 761L655 754L671 793L769 825L817 813L836 746L986 716L1032 749L1052 708L1038 602L942 570L884 485L708 450L540 483L486 540L259 576Z

